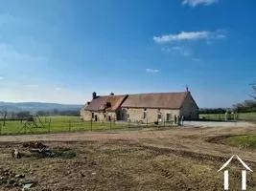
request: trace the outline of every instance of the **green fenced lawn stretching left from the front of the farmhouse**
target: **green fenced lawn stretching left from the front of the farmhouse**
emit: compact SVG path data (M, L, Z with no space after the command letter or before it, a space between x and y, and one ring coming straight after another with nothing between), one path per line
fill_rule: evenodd
M110 130L128 128L128 124L120 124L110 121L95 122L81 121L79 117L40 117L42 125L37 121L36 127L24 127L26 121L6 121L3 126L3 121L0 121L1 135L25 134L25 133L57 133L57 132L75 132L75 131L90 131L90 130ZM130 125L129 125L130 126Z

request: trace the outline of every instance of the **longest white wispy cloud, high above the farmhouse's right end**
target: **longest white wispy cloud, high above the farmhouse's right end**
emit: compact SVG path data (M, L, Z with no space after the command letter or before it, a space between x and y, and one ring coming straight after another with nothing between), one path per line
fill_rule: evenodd
M192 41L199 39L221 39L224 38L225 30L216 30L215 32L200 31L200 32L179 32L176 34L167 34L162 36L153 36L153 41L156 43L167 43L173 41Z

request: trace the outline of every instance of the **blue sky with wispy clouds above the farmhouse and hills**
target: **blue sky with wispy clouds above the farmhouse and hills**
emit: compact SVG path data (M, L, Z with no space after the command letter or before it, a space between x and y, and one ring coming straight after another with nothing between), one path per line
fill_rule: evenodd
M255 0L0 0L0 100L84 103L180 92L249 98Z

